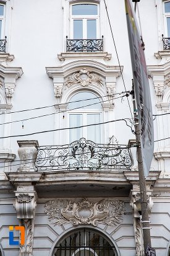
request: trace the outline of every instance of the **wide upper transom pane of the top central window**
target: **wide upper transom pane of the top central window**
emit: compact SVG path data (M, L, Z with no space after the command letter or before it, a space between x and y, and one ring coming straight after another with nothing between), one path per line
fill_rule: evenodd
M75 4L72 6L72 15L97 15L98 6L96 4Z

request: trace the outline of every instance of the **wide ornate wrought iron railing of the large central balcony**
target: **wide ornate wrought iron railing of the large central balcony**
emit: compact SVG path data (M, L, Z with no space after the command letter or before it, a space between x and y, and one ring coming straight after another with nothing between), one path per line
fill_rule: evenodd
M122 170L130 169L132 157L127 146L95 144L81 138L63 146L40 146L37 170Z

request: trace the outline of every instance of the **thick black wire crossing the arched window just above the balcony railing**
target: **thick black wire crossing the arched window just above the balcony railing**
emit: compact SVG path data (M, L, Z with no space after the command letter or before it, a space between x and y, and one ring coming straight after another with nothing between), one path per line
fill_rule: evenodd
M53 129L53 130L47 130L47 131L37 131L35 133L28 133L27 135L3 136L3 137L0 137L0 139L37 135L37 134L40 134L40 133L49 133L51 131L70 130L70 129L77 129L77 128L82 128L82 127L87 127L87 126L94 126L94 125L104 125L105 123L113 123L115 121L125 121L125 120L129 120L129 118L122 118L122 119L117 119L117 120L105 121L105 122L102 122L102 123L93 123L91 125L82 125L82 126L75 126L75 127L69 127L69 128L60 128L60 129ZM126 123L126 121L125 121L125 123Z

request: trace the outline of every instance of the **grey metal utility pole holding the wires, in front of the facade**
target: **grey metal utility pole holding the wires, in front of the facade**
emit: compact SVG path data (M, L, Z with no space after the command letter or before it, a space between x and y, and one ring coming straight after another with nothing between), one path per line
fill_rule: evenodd
M147 246L149 245L151 247L150 221L149 221L149 213L148 213L146 180L145 180L145 175L143 170L142 150L140 146L140 127L138 124L137 108L135 104L134 84L132 87L132 95L133 95L133 105L134 105L135 136L136 136L136 143L137 143L140 203L141 203L141 211L142 211L143 245L144 245L145 255L147 255L146 253Z

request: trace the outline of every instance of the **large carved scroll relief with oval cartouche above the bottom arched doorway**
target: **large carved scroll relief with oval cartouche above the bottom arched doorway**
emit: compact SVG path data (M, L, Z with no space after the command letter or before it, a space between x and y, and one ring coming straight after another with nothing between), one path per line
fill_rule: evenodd
M45 213L48 218L54 220L54 225L72 223L91 224L98 223L116 226L121 223L124 214L124 202L119 200L101 200L97 202L73 200L50 200L45 204Z

